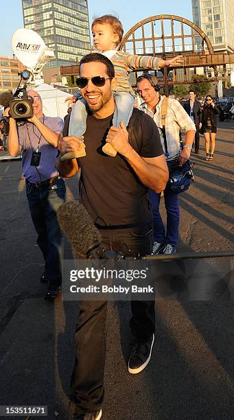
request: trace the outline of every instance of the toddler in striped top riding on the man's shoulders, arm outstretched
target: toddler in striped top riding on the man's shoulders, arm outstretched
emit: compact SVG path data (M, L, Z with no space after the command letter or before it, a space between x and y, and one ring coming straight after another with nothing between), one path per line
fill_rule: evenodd
M158 70L165 66L172 67L183 62L182 56L176 56L171 60L163 60L159 57L138 56L124 51L117 51L117 46L121 43L124 30L119 19L110 14L105 14L93 21L92 33L95 52L104 54L113 62L115 68L117 87L114 92L116 107L113 115L113 126L119 127L121 121L124 122L125 126L128 126L134 106L134 91L128 80L130 71L135 69ZM85 104L85 100L80 99L73 106L69 123L69 136L81 138L84 134L87 116ZM106 143L102 150L106 154L110 154L110 156L116 155L116 151L110 143ZM66 155L63 156L63 159L66 159Z

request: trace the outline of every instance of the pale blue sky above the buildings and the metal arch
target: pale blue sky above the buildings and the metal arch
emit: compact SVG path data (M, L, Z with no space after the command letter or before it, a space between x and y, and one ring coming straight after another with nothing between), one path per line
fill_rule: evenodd
M38 0L40 1L40 0ZM88 0L89 21L93 16L115 14L124 26L124 34L139 21L156 14L175 14L192 21L191 0ZM1 0L0 56L12 56L11 38L23 27L21 0Z

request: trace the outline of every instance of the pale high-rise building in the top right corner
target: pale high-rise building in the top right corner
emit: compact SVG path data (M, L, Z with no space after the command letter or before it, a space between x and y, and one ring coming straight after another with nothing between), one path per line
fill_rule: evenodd
M234 52L234 0L191 0L193 20L214 51Z

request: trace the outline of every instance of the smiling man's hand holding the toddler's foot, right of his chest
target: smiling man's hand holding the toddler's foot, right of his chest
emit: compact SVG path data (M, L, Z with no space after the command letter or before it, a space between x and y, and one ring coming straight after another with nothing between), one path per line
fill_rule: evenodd
M128 143L128 131L126 130L123 121L121 121L120 127L121 128L115 126L110 127L106 142L110 143L118 153L126 156L131 149L131 146Z

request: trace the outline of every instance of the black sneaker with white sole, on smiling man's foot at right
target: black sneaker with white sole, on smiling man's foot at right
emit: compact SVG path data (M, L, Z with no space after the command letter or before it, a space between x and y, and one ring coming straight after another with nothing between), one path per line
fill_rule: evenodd
M134 342L130 358L128 360L128 372L140 373L150 362L152 347L154 344L154 334L148 341Z

